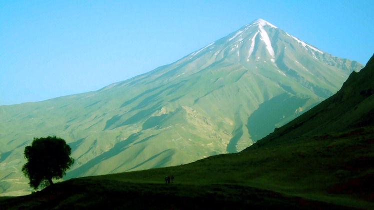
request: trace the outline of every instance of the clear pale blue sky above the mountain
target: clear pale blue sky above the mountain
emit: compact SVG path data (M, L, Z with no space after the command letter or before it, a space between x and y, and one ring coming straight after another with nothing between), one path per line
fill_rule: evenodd
M262 18L366 64L374 0L2 0L0 105L100 89Z

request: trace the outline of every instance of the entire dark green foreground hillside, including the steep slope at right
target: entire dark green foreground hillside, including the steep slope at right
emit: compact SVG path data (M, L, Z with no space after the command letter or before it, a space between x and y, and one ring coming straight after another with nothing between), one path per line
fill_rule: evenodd
M359 73L349 76L338 93L240 153L177 167L72 179L29 196L3 198L0 205L9 209L374 209L373 74L374 56ZM309 135L300 135L303 129ZM174 175L174 183L165 185L165 175Z

